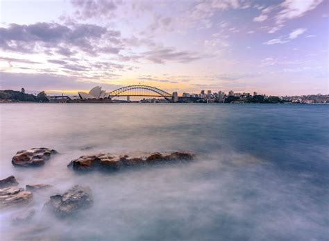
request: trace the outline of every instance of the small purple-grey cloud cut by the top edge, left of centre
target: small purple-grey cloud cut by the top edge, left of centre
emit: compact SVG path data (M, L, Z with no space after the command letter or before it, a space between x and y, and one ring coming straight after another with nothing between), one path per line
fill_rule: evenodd
M77 9L76 15L82 19L92 17L109 17L117 10L121 1L112 0L71 0L72 5Z

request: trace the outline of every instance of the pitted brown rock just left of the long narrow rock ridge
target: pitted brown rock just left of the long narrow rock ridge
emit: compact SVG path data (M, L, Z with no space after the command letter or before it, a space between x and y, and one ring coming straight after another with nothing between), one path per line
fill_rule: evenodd
M17 151L12 158L12 165L19 167L37 167L44 165L51 155L56 154L57 151L49 148L32 148L23 151Z

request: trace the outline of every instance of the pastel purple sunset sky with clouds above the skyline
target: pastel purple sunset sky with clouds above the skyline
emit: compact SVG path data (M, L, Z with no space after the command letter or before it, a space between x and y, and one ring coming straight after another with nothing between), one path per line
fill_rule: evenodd
M328 94L327 0L0 0L0 89Z

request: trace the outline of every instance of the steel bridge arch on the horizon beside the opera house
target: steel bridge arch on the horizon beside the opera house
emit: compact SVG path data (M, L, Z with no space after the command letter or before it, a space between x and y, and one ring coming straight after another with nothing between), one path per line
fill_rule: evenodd
M154 92L155 94L143 94L136 90L146 90L149 92ZM133 92L131 92L133 91ZM130 93L127 93L130 92ZM153 86L149 85L128 85L122 88L119 88L117 90L113 90L108 93L108 97L110 99L114 97L126 97L126 96L135 96L135 97L164 97L165 99L171 99L172 94L169 94L168 92L165 92L165 90L161 90L159 88L155 88Z

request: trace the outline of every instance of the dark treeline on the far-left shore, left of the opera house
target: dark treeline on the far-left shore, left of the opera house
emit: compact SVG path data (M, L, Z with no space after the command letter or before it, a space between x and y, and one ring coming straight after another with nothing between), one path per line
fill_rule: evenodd
M35 96L34 94L26 94L16 90L0 90L0 99L10 101L49 102L47 94L43 91Z

